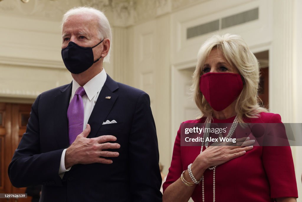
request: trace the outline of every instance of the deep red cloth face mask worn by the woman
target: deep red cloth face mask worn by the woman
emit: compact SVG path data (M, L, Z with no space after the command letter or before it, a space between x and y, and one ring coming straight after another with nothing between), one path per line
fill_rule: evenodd
M215 111L228 107L239 96L243 82L239 74L206 73L201 75L199 88Z

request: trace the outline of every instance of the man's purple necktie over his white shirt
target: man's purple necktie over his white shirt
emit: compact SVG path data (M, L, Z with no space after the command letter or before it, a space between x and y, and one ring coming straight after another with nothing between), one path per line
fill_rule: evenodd
M82 96L85 94L86 92L84 88L82 86L79 87L76 90L76 93L73 96L67 110L69 144L72 144L78 134L82 133L83 131L84 105Z

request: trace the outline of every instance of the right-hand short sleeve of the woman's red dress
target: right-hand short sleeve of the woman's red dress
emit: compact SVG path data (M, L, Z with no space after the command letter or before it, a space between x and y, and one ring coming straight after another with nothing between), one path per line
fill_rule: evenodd
M274 114L270 123L282 123ZM264 146L262 162L270 184L271 198L298 197L294 162L289 146Z

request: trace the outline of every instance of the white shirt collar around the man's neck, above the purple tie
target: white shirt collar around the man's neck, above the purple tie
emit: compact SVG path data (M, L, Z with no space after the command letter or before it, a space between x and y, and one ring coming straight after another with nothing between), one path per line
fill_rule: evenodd
M91 101L92 98L100 91L104 83L107 79L107 74L105 72L105 69L98 73L95 77L90 79L84 86L84 90L86 92L86 95L88 99ZM80 84L76 82L76 80L72 79L72 91L71 91L71 98L73 98L74 94L76 93L76 90L80 87Z

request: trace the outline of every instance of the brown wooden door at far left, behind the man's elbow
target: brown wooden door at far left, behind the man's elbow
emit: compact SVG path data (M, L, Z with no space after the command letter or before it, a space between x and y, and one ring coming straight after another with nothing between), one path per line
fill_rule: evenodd
M8 178L8 165L26 130L31 104L0 103L0 193L21 194L26 188L16 188ZM30 202L31 197L0 199L0 202Z

